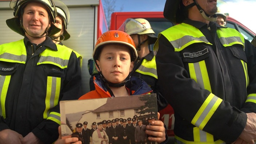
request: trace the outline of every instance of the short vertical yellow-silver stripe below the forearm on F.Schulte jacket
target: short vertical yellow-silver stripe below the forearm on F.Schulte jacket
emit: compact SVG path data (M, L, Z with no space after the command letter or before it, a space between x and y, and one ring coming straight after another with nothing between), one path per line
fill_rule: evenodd
M211 135L208 132L202 131L201 129L194 127L193 128L194 133L194 141L200 141L200 142L214 142L213 135Z

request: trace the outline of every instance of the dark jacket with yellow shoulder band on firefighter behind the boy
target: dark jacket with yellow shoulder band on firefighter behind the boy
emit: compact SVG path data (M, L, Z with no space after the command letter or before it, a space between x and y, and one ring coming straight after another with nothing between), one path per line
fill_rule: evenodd
M132 76L143 79L149 87L152 88L153 93L157 94L157 109L159 111L167 107L168 103L161 94L160 87L157 82L156 57L152 51L150 51L147 56L135 61Z

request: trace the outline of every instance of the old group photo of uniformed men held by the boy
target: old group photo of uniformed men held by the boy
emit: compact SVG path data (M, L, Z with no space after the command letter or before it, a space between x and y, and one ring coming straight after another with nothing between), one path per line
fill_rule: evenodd
M146 125L157 120L156 94L60 101L61 136L82 144L155 144Z

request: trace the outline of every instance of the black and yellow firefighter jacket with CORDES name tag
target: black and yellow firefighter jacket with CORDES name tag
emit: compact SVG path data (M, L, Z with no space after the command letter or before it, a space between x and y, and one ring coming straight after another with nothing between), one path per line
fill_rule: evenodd
M79 61L49 37L38 45L25 37L0 45L0 85L0 130L33 132L50 144L59 136L59 101L78 99Z

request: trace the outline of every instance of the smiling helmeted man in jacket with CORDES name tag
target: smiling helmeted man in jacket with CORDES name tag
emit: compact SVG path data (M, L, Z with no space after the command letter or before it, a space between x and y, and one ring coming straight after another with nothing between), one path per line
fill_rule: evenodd
M79 61L72 49L48 37L56 8L48 0L12 0L9 28L24 39L0 45L0 143L53 143L60 100L78 98Z

